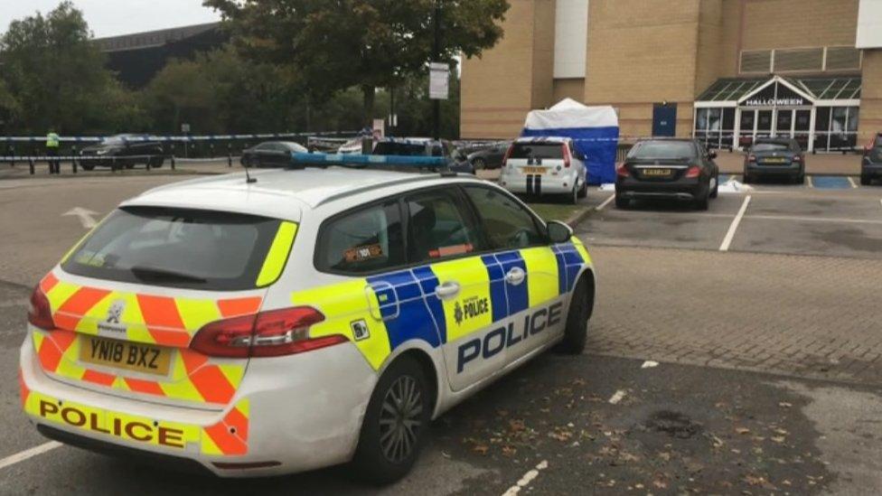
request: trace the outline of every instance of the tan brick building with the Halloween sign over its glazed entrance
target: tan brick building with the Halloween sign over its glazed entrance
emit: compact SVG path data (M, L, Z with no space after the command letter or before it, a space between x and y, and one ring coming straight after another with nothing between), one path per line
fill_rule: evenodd
M565 97L612 105L624 136L724 148L882 131L882 0L509 2L502 41L463 63L464 137L516 136Z

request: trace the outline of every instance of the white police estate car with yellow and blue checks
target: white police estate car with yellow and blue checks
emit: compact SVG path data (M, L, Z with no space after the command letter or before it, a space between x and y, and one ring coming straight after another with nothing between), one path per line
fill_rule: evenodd
M473 176L262 170L124 201L42 278L36 428L220 476L408 472L436 416L580 352L586 248Z

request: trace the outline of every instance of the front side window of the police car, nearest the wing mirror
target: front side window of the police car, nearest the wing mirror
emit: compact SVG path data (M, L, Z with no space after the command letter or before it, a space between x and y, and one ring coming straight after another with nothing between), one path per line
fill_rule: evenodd
M466 186L464 190L478 211L489 248L519 249L545 244L535 218L509 195L480 186Z

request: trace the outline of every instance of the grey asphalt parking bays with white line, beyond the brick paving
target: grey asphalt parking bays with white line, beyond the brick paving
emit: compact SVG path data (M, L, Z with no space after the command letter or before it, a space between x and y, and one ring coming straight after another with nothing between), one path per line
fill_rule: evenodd
M720 182L733 179L724 174ZM877 189L852 187L849 178L816 176L803 186L763 182L720 193L706 212L667 201L630 211L610 205L578 232L595 244L882 257L880 199Z

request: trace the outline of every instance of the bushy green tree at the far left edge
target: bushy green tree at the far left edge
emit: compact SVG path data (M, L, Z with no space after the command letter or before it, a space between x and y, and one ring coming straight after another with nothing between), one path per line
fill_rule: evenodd
M45 133L146 126L136 98L104 69L82 13L70 2L13 21L0 37L0 80L10 96L11 128ZM6 106L9 107L6 107Z

